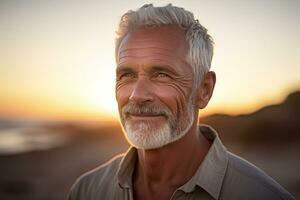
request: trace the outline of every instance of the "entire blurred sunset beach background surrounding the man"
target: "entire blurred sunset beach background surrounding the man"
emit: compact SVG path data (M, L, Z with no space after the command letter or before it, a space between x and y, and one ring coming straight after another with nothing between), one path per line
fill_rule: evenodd
M124 152L114 37L149 1L0 1L0 199L65 199ZM194 13L215 41L200 123L300 198L300 2L151 1Z

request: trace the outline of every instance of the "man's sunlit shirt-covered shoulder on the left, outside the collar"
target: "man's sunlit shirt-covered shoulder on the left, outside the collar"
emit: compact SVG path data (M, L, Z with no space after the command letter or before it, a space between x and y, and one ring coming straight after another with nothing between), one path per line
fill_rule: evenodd
M99 167L81 175L73 184L69 199L94 199L97 194L113 190L117 184L117 172L124 154L119 154ZM92 195L92 196L91 196Z

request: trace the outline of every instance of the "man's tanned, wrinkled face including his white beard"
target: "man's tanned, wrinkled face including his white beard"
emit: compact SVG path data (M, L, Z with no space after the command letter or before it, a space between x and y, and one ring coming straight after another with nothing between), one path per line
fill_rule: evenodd
M121 42L116 99L127 140L155 149L183 137L194 122L193 74L185 34L176 27L140 29Z

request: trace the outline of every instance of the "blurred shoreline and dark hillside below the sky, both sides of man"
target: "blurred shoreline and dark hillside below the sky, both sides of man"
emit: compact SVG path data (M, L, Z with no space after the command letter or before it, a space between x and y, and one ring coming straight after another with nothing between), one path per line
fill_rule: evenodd
M299 113L300 91L251 114L216 114L200 122L300 198ZM117 122L0 120L0 199L66 199L78 176L127 148Z

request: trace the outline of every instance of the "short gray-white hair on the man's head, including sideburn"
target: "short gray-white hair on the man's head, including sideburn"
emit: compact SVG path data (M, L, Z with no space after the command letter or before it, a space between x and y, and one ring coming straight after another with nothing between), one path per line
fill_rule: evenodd
M154 7L146 4L136 11L129 10L120 20L116 37L116 59L118 59L119 45L122 39L131 31L141 27L159 27L163 25L177 25L186 32L188 53L186 61L191 65L194 73L194 84L199 86L203 76L210 70L213 57L213 39L207 33L193 13L172 4L164 7Z

